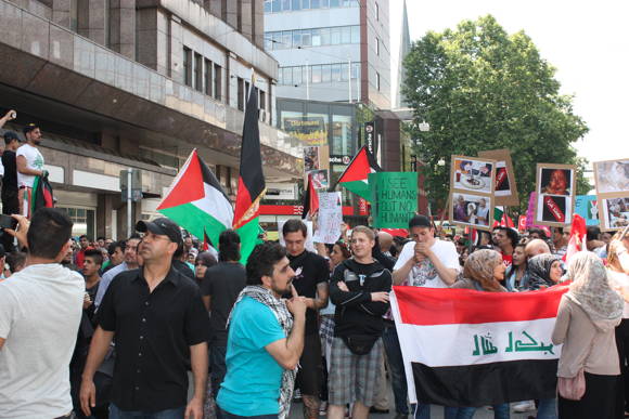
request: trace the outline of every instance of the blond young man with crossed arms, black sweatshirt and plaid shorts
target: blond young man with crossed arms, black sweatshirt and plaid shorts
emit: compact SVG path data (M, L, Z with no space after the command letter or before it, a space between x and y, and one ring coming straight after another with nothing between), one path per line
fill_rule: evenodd
M390 273L372 257L375 235L356 226L351 232L354 257L334 270L330 296L336 304L329 377L328 418L343 419L345 405L354 403L351 417L365 419L373 406L383 356L381 336L387 312Z

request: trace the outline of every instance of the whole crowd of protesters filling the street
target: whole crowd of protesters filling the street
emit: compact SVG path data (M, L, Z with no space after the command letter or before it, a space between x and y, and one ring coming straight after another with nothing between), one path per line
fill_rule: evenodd
M284 245L265 241L243 265L230 230L203 250L166 218L118 241L75 240L54 209L14 218L4 234L20 250L3 256L0 283L0 418L284 419L298 400L306 419L364 419L388 413L389 385L396 418L429 418L429 405L408 404L391 287L561 284L569 289L552 335L563 343L559 395L492 406L495 417L629 410L627 232L589 227L587 250L566 262L562 228L549 237L497 226L471 243L415 215L407 237L345 225L339 241L308 250L295 219L280 232Z

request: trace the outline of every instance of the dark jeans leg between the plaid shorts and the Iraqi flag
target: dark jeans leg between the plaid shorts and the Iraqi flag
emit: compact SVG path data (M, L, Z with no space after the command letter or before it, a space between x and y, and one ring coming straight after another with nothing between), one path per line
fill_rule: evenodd
M394 398L396 403L396 411L401 415L409 414L409 406L407 404L407 376L405 374L405 362L402 359L402 352L400 350L400 341L395 325L385 325L382 335L384 343L384 351L388 362L390 382L394 391ZM429 413L428 413L429 416Z

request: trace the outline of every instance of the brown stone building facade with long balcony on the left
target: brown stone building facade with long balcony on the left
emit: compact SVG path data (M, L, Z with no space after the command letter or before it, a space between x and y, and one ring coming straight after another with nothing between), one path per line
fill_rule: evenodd
M255 73L268 181L300 176L300 142L274 128L277 61L262 0L0 0L0 108L40 125L57 207L75 233L124 237L120 170L142 170L155 209L196 148L230 196ZM1 110L0 110L1 112Z

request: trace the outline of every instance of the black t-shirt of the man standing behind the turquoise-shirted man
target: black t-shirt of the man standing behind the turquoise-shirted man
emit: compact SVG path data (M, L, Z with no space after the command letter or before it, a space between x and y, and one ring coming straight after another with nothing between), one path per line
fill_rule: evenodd
M297 290L297 293L301 297L316 298L317 297L317 286L321 283L326 283L330 280L330 265L328 261L317 253L311 251L304 251L299 256L288 254L288 260L291 261L291 267L295 271L295 277L293 278L293 285ZM286 296L291 297L291 296ZM317 327L317 312L312 309L306 311L306 332L305 335L311 335L318 332Z

